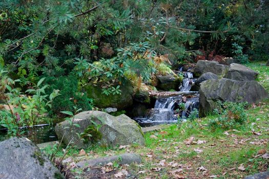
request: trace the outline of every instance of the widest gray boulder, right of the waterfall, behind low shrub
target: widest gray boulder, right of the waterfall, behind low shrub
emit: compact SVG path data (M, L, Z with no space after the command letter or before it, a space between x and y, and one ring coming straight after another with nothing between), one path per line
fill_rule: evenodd
M199 116L203 117L217 107L217 101L248 102L267 98L266 90L257 81L237 81L227 78L200 83Z

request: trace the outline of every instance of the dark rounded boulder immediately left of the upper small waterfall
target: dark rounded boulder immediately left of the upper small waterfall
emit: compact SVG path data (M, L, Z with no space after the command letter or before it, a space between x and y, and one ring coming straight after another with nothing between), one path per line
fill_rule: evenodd
M180 85L181 79L175 77L174 75L165 75L165 76L157 76L158 85L157 88L169 91L171 89L178 91L178 87Z

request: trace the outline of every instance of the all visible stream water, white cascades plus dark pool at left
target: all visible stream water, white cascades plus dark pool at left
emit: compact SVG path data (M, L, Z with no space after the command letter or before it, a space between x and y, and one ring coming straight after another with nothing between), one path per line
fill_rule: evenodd
M199 107L198 92L190 92L192 84L196 79L193 78L191 72L182 72L182 68L178 73L183 74L182 84L178 86L179 92L157 92L161 94L157 97L153 108L148 109L148 113L141 117L133 118L141 127L148 127L158 124L176 123L178 118L187 120L188 116L194 109ZM176 111L180 105L184 105L184 110ZM35 144L56 141L57 136L54 125L42 125L21 129L24 135ZM37 133L33 138L33 131ZM0 141L7 139L7 130L0 128Z

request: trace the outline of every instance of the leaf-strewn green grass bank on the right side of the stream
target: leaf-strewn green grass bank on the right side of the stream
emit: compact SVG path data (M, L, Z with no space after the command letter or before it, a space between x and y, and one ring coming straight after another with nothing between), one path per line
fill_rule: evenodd
M250 68L258 71L260 76L258 81L269 91L269 68L264 66L264 63L248 64ZM115 170L120 171L126 169L128 172L137 178L173 178L173 174L169 171L180 167L172 168L168 165L169 162L174 162L182 165L182 174L185 178L209 178L211 175L217 175L217 178L242 178L250 174L267 170L269 165L268 159L262 159L255 156L258 151L265 149L269 152L269 100L264 100L257 103L256 106L251 106L246 109L247 121L245 125L235 128L236 131L229 130L229 136L223 132L225 129L216 128L211 130L206 126L209 120L215 116L208 116L199 119L199 125L194 122L186 122L181 126L177 124L167 125L162 130L146 133L146 146L141 147L132 145L125 149L104 148L93 146L85 151L88 156L85 159L96 158L97 156L114 155L124 152L136 152L142 157L142 167L132 164L129 167L119 166ZM255 135L253 131L261 132L261 135ZM151 136L156 136L157 139ZM193 144L187 146L184 141L194 137L194 141L206 141L204 144ZM254 145L250 142L264 140L260 145ZM267 142L266 142L267 140ZM241 142L245 141L245 142ZM240 143L241 142L241 143ZM201 149L201 153L197 153L194 149ZM67 157L71 156L74 161L81 160L78 157L79 150L72 149L68 152ZM63 154L59 152L58 156ZM149 157L151 156L152 157ZM159 166L158 163L165 160L165 166ZM238 169L240 164L245 167L244 171ZM197 168L203 166L208 169L206 172L201 172ZM160 171L153 171L153 168L160 167ZM146 173L138 174L140 170L146 170ZM113 178L113 177L112 177Z

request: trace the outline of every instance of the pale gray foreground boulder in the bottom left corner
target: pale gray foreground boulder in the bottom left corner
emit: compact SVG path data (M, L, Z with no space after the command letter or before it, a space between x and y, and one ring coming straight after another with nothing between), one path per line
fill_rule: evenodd
M65 178L27 138L0 142L0 178Z

